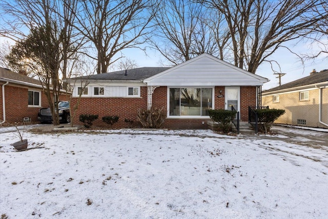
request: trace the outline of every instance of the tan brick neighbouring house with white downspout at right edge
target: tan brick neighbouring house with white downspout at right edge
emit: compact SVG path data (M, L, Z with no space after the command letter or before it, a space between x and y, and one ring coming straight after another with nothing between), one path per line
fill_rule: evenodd
M328 70L263 91L262 105L285 110L275 123L328 128Z

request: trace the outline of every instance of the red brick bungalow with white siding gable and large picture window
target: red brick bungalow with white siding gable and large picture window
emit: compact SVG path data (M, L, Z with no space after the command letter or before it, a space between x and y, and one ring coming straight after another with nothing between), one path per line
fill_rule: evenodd
M162 108L165 128L207 129L208 109L234 106L242 121L248 107L257 106L267 78L244 71L212 55L201 54L172 68L145 67L69 79L71 108L80 114L98 114L96 126L107 126L103 116L119 116L116 128L138 127L137 110ZM260 102L259 102L260 103Z

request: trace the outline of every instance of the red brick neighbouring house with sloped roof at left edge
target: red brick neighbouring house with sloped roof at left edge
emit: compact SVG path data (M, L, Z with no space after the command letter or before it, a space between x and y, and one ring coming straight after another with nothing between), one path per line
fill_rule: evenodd
M0 67L0 124L8 122L37 122L37 113L49 107L39 80ZM63 90L59 99L69 100Z

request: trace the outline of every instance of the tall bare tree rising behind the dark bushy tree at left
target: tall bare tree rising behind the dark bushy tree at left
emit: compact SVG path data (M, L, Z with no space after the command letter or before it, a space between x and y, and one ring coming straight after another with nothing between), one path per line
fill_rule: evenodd
M8 37L15 42L25 39L31 30L38 27L56 25L56 35L60 41L61 64L59 74L66 81L71 68L74 66L77 51L83 46L81 39L71 26L75 16L72 11L76 10L78 0L4 0L0 7L6 16L0 25L0 35ZM70 63L71 62L71 63ZM27 69L26 67L22 67ZM34 75L29 75L34 76ZM64 83L66 88L66 83Z

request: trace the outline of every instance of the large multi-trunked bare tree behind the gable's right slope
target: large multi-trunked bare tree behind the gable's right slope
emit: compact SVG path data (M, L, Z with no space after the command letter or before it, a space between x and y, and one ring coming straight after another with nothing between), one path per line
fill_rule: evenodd
M196 0L223 15L233 64L255 73L285 42L308 35L326 19L325 0ZM285 47L286 48L286 47ZM290 48L287 48L291 51ZM226 59L226 57L223 57Z

